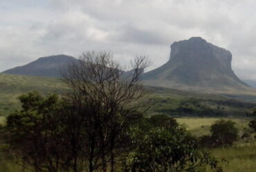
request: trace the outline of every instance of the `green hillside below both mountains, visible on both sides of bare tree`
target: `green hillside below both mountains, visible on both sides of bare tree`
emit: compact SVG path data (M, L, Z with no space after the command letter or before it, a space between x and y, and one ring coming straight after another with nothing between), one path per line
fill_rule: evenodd
M6 116L20 108L17 96L33 90L42 94L60 93L66 89L57 78L0 74L0 114ZM167 114L170 116L248 116L255 103L224 98L213 94L146 87L145 97L137 102L145 115Z

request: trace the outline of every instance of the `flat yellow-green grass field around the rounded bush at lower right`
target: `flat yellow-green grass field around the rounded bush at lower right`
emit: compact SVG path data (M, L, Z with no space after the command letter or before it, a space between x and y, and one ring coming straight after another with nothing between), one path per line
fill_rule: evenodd
M188 130L196 136L210 134L210 125L220 118L176 118L180 123L187 125ZM248 129L246 118L224 118L236 122L239 129L239 138ZM210 152L216 157L228 160L223 162L225 172L254 172L256 171L256 145L255 142L245 143L239 139L232 147L220 147L211 149ZM208 168L208 172L212 171Z

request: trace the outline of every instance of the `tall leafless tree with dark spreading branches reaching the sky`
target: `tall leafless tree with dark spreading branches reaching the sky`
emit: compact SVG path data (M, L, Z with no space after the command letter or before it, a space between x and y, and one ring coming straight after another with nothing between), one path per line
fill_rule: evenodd
M74 107L70 116L80 116L74 129L80 127L86 138L82 143L76 140L83 153L77 158L86 159L89 171L107 171L109 166L114 171L118 158L127 151L128 122L136 114L131 104L143 96L140 77L148 65L145 56L139 56L125 72L113 54L85 52L64 70L63 80L71 88L64 97Z

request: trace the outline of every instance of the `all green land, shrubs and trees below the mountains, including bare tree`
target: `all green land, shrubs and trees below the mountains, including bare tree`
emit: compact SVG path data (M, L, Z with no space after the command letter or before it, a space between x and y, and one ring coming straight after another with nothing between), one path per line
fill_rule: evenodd
M249 151L255 149L255 103L144 90L140 74L147 61L132 64L125 73L111 54L87 52L69 65L64 80L0 74L0 171L256 168L256 153Z

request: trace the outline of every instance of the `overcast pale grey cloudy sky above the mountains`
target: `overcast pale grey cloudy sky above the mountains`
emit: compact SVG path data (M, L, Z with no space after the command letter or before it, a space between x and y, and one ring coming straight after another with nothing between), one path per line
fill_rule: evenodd
M113 52L122 64L166 63L174 41L201 36L256 80L255 0L0 0L0 72L42 56Z

